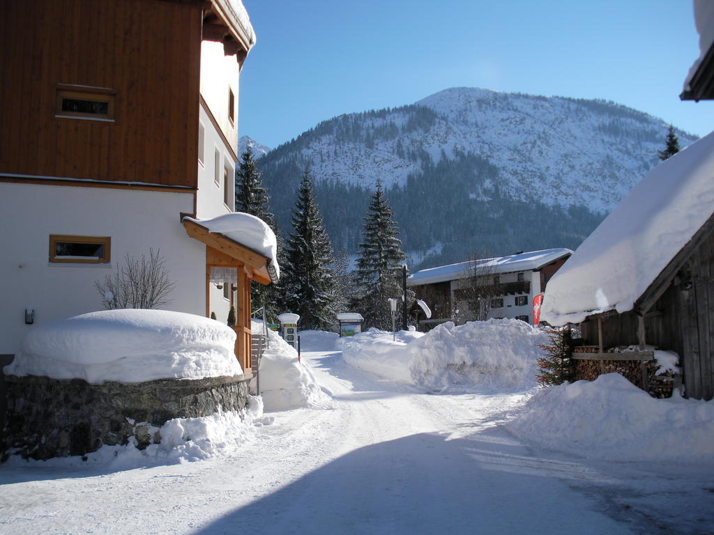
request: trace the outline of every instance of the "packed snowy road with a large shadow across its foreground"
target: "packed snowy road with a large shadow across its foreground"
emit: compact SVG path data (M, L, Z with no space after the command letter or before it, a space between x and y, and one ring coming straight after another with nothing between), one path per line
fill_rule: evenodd
M91 471L0 467L0 534L711 533L693 467L533 452L512 395L429 395L306 353L331 409L271 413L229 458Z

